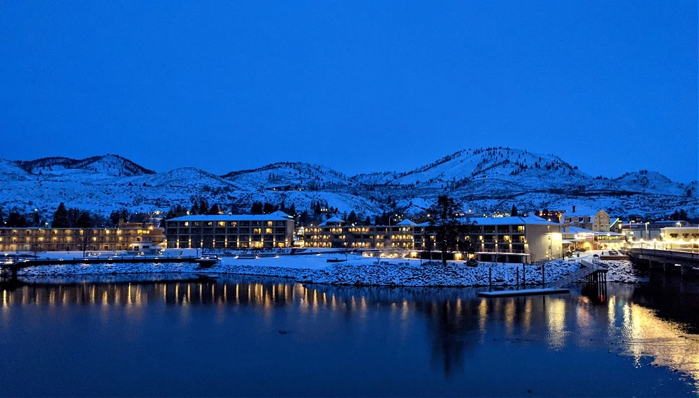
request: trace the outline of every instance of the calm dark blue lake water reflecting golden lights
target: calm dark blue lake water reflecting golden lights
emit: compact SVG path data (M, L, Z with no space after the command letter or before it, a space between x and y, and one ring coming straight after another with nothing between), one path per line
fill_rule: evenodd
M468 288L123 278L0 286L0 395L699 391L699 289L672 278L501 299Z

